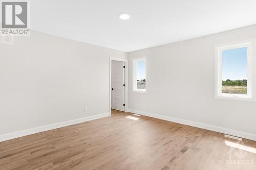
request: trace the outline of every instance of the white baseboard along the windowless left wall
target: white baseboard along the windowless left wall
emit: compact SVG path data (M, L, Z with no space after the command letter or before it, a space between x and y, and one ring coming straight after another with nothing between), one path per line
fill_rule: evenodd
M70 125L75 125L75 124L79 124L79 123L83 123L83 122L88 122L90 120L94 120L94 119L98 119L98 118L102 118L102 117L107 117L107 116L111 116L111 114L110 113L103 113L103 114L78 118L78 119L74 119L74 120L68 120L66 122L60 122L60 123L57 123L57 124L51 124L51 125L36 127L36 128L32 128L32 129L23 130L23 131L7 133L7 134L0 135L0 142L5 141L5 140L14 139L14 138L17 138L17 137L22 137L22 136L27 136L27 135L39 133L39 132L44 132L44 131L48 131L48 130L52 130L52 129L56 129L56 128L61 128L61 127L65 127L65 126L70 126Z

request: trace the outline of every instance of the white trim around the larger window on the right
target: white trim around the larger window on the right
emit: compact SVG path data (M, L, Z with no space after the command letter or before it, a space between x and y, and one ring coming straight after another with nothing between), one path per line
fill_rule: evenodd
M247 47L247 94L222 93L222 51ZM227 100L252 101L252 77L251 77L251 42L243 41L215 46L215 98Z

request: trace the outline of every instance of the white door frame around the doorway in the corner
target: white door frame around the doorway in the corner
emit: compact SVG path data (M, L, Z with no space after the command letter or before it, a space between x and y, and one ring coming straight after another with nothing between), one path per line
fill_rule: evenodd
M117 57L111 57L110 56L110 85L109 85L109 103L110 103L110 115L111 115L111 79L112 79L112 60L116 60L116 61L123 61L124 65L125 65L125 69L124 69L124 74L125 74L125 88L124 88L124 112L127 112L128 109L128 60L127 59L122 59L122 58L117 58Z

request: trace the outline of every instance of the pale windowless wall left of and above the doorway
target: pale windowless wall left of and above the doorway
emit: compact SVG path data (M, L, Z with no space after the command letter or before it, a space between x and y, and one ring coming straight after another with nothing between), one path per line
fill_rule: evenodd
M110 56L127 53L39 32L0 43L0 135L109 112Z

